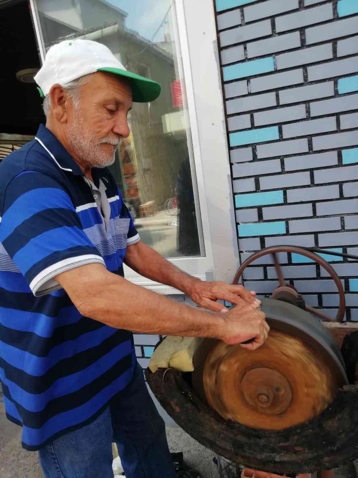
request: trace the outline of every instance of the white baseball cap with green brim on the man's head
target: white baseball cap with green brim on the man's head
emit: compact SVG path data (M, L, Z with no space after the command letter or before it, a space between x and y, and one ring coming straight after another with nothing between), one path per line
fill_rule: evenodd
M95 72L128 78L136 103L148 103L160 95L159 83L127 71L107 46L91 40L65 40L51 46L35 81L40 95L47 96L54 84L66 85Z

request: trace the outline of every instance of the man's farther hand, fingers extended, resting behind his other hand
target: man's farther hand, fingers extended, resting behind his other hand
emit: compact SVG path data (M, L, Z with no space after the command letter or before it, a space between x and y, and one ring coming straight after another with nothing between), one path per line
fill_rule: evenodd
M227 309L217 300L226 300L231 304L241 304L245 301L254 308L259 308L261 301L255 298L256 292L246 290L242 285L232 285L226 282L207 282L196 280L189 291L191 299L203 309L213 312L227 312Z

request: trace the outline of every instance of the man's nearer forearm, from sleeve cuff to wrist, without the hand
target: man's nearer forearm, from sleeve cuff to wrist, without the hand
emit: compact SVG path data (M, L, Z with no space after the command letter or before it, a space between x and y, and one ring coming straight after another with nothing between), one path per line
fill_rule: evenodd
M220 337L225 321L222 314L151 292L108 273L99 264L68 271L58 280L83 316L111 327L148 334Z

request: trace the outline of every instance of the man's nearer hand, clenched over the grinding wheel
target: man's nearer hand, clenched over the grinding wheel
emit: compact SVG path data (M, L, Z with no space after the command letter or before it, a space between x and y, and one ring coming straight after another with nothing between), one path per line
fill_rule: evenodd
M220 339L226 344L241 344L246 349L255 350L267 339L270 327L265 314L246 301L241 300L236 307L223 315L225 329ZM243 344L251 339L253 339L251 343Z

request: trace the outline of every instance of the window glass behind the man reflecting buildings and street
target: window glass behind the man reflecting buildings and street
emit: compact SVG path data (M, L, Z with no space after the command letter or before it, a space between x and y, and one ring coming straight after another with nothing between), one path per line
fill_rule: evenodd
M174 1L36 0L36 6L46 50L70 38L100 41L128 70L161 83L156 101L134 104L131 136L111 171L145 243L165 257L204 255Z

